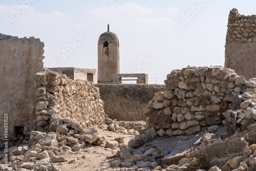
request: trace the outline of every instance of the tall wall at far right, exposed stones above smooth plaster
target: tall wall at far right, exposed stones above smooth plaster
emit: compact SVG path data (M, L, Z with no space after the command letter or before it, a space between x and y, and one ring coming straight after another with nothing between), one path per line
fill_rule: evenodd
M256 15L241 15L232 9L228 16L225 68L246 79L256 77Z

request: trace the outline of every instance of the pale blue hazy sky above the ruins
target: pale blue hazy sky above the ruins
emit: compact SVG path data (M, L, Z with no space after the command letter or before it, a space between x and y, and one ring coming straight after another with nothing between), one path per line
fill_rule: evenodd
M120 73L148 83L187 66L223 66L228 14L256 14L256 1L1 0L0 33L40 38L45 67L97 69L100 34L119 38ZM1 53L1 52L0 52Z

